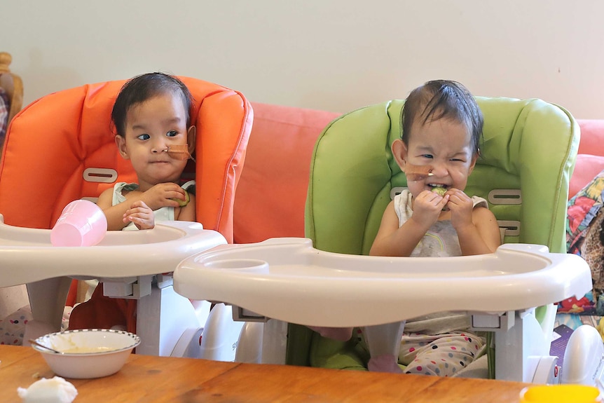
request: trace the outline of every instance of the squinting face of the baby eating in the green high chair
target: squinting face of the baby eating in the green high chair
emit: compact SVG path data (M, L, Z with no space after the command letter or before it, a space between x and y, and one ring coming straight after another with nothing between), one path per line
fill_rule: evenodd
M401 168L409 191L417 197L435 187L463 191L475 162L472 136L464 124L444 118L423 124L418 119L411 128L405 166ZM430 175L413 177L411 172Z

